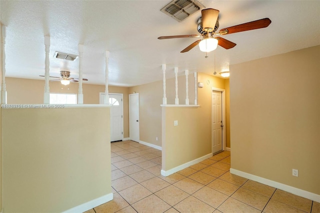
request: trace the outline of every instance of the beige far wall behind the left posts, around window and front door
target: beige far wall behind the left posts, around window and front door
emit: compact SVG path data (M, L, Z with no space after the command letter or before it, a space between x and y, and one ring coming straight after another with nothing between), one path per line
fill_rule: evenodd
M44 80L24 79L6 77L7 103L43 103ZM49 83L50 92L57 93L78 93L78 84L70 83L68 86L62 85L59 81ZM104 85L82 84L83 103L98 104L99 92L104 92ZM127 87L109 86L110 93L123 94L123 137L129 137L129 108Z

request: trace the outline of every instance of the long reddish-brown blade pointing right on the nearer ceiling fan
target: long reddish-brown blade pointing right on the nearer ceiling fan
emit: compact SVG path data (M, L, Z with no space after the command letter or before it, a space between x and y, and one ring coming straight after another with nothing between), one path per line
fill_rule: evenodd
M221 29L219 32L223 33L223 31L225 30L227 30L226 34L230 34L234 32L242 32L242 31L251 30L251 29L264 28L264 27L267 27L270 23L271 23L271 20L269 18L262 18L259 20L254 20L247 23L238 24L235 26L230 26L230 27Z

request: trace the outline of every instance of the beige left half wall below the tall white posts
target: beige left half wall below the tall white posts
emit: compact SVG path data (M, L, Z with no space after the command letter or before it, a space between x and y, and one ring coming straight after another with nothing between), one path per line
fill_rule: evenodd
M112 193L108 107L2 109L2 122L2 212L61 212Z

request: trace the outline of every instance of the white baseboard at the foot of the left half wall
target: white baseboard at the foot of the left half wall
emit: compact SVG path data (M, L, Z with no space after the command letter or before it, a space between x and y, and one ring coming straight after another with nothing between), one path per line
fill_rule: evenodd
M100 196L100 197L98 197L96 199L92 199L92 200L87 201L85 203L82 203L82 204L80 204L78 206L75 206L73 208L67 209L67 210L63 211L62 213L69 213L69 212L70 213L71 212L72 213L75 213L75 212L81 213L81 212L87 211L87 210L89 210L89 209L91 209L93 207L96 207L98 205L101 205L101 204L103 204L105 202L108 202L108 201L110 201L112 199L113 199L113 193L108 193L108 194Z

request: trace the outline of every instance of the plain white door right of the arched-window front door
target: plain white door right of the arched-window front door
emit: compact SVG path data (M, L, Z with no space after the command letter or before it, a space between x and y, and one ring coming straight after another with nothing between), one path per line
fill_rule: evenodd
M129 131L130 140L139 142L139 93L129 94Z

